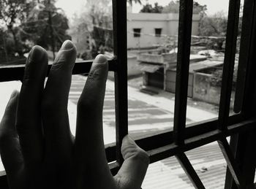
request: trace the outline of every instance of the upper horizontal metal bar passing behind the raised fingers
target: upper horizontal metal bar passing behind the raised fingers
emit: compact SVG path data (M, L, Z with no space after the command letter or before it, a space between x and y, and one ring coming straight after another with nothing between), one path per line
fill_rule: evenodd
M85 74L89 73L91 69L92 61L77 61L73 68L72 74ZM116 59L108 61L109 71L116 72ZM52 63L48 64L48 74ZM23 65L12 65L12 66L0 66L0 82L22 80L24 74L25 64Z

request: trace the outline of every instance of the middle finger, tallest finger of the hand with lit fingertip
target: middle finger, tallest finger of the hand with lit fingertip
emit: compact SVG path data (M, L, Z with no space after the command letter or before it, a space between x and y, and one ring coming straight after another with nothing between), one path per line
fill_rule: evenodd
M65 41L50 69L42 100L46 149L59 163L66 161L70 156L67 152L72 147L67 103L75 58L75 45L69 40Z

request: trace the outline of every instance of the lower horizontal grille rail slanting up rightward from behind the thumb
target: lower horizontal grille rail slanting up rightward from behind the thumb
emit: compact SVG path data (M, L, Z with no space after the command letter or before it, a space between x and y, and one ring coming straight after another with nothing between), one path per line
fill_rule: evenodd
M231 120L231 122L232 121L233 120ZM173 139L170 139L173 131L138 139L136 140L136 143L148 152L150 163L154 163L178 153L184 153L196 147L203 146L204 144L217 141L223 137L255 129L256 120L233 123L233 125L227 127L227 131L225 132L216 130L216 124L217 120L213 120L211 122L201 123L198 126L186 128L188 132L185 136L184 146L178 146L173 143ZM116 174L120 168L120 164L114 162L116 161L116 143L107 144L105 150L108 162L113 162L110 163L110 169L113 174ZM0 172L0 175L1 174L4 176L5 172ZM1 179L3 179L3 177L0 176L0 180Z

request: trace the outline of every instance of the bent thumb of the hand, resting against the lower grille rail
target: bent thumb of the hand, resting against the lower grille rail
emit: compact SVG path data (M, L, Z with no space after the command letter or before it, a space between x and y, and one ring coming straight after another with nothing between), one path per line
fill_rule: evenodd
M121 153L124 163L115 176L118 188L140 189L148 169L148 154L128 135L124 136Z

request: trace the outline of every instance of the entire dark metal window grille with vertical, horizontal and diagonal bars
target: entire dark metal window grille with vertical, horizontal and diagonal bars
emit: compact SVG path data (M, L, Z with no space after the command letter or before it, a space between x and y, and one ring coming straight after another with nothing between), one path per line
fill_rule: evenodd
M173 131L138 139L151 163L175 155L195 188L204 188L184 152L217 141L227 161L225 188L246 188L254 185L256 163L255 131L255 55L256 55L256 1L244 1L243 26L238 65L238 81L234 108L238 114L229 115L233 66L240 0L230 0L224 72L219 104L219 117L186 128L187 86L192 30L192 0L180 1L178 26L178 58L176 98ZM116 143L106 145L110 169L115 174L121 166L121 139L128 133L127 112L127 1L113 0L114 55L109 62L110 72L115 72ZM91 61L75 63L73 74L89 72ZM48 71L50 65L48 66ZM22 80L24 66L0 68L0 82ZM230 144L226 136L231 136ZM0 188L7 188L7 178L0 173Z

